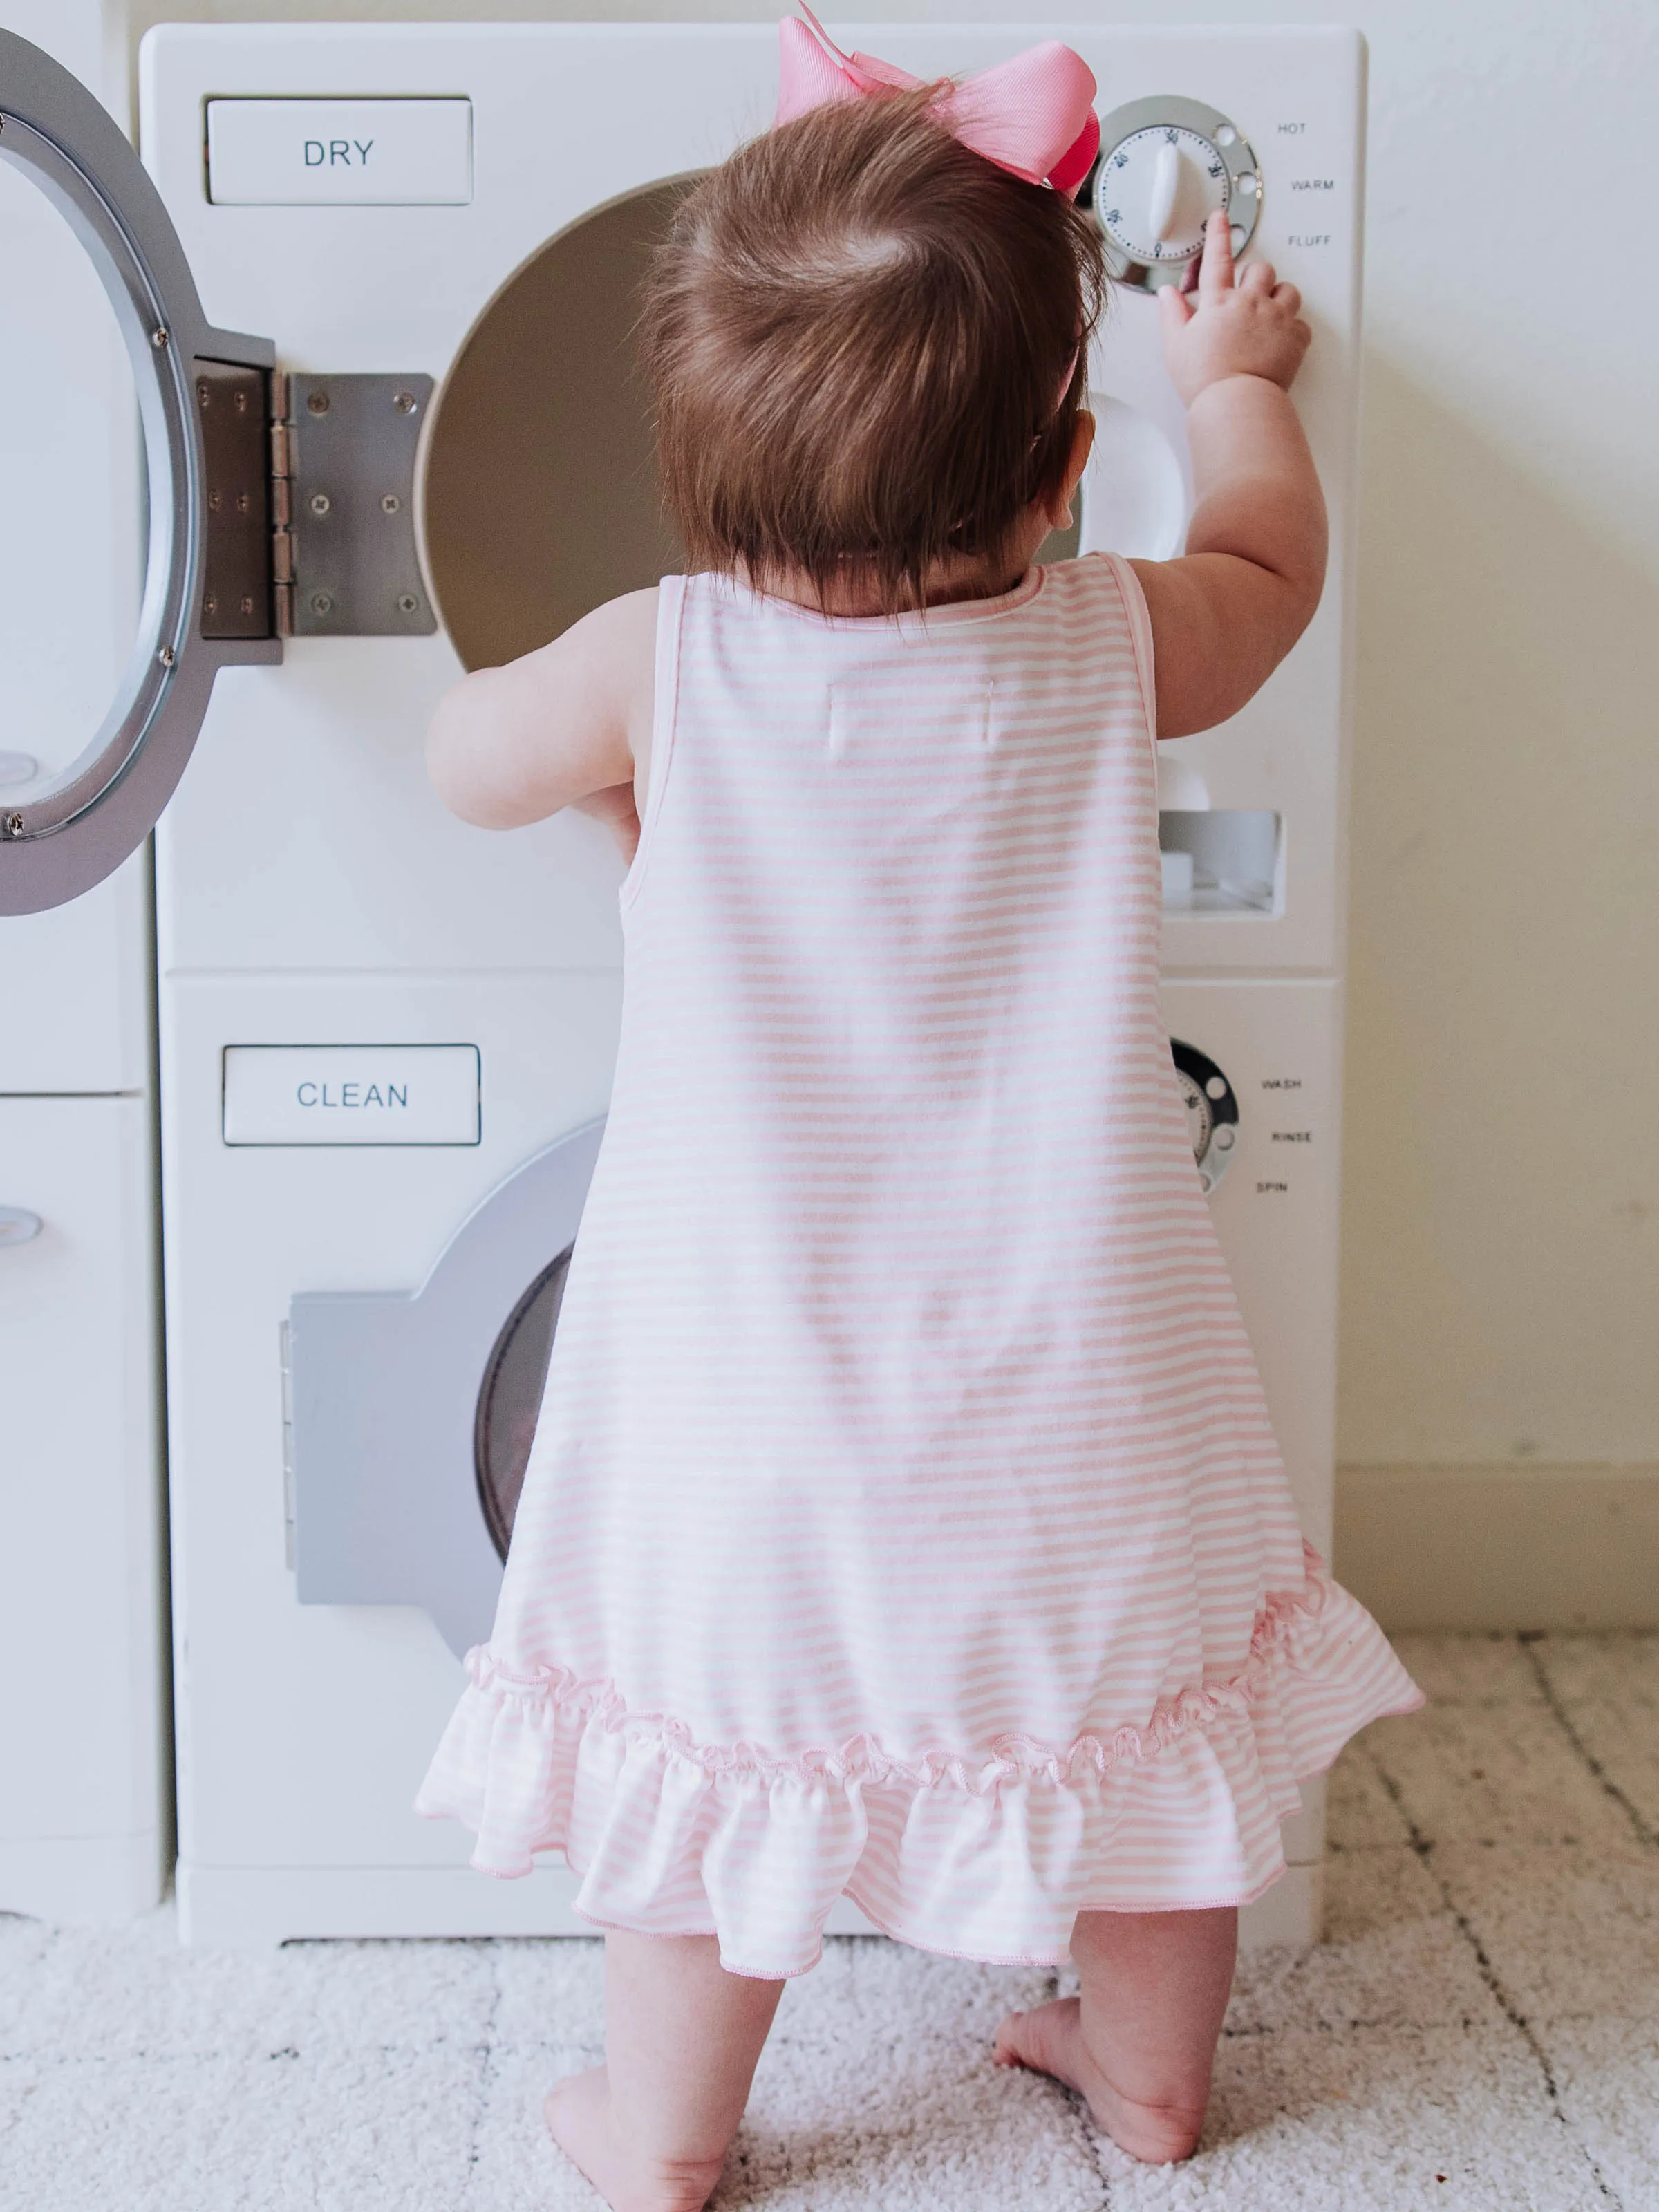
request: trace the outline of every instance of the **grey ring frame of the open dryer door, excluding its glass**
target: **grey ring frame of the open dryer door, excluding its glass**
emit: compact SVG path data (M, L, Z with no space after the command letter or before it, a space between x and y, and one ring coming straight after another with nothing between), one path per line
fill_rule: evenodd
M219 668L281 659L270 577L276 356L265 338L208 325L133 146L84 84L9 31L0 161L58 208L108 294L148 473L144 597L115 697L73 759L0 792L0 914L38 914L102 883L150 834Z

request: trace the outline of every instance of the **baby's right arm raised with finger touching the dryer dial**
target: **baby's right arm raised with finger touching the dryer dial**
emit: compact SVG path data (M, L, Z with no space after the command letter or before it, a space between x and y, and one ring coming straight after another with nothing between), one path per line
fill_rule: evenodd
M1252 263L1234 283L1225 217L1206 234L1197 307L1161 294L1188 405L1197 504L1181 560L1135 562L1152 615L1157 734L1237 714L1307 628L1325 584L1325 498L1290 385L1301 294Z

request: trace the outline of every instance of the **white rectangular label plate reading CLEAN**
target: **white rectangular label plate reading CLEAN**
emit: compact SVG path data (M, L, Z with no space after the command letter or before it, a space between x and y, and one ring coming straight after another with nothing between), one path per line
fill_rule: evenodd
M476 1044L228 1044L226 1144L478 1144Z

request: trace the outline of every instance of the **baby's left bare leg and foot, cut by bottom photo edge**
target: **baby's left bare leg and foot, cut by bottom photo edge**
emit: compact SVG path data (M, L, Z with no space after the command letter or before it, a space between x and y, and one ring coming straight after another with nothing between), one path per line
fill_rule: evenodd
M557 2081L546 2124L615 2212L703 2212L781 1995L712 1936L606 1936L604 2066Z

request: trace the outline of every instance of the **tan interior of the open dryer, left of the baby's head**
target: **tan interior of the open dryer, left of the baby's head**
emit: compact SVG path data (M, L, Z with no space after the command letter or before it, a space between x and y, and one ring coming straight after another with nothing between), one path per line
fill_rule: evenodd
M650 257L692 181L628 192L538 248L434 400L425 562L467 668L500 668L686 566L657 493L635 330Z

